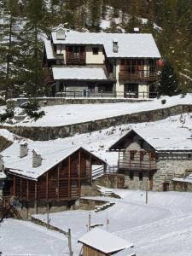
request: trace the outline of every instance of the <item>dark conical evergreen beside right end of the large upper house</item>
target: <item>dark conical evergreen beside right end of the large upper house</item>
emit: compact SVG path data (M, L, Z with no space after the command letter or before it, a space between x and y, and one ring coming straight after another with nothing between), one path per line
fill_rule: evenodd
M178 78L175 73L172 63L168 60L165 61L165 65L160 73L159 92L160 95L173 96L177 94Z

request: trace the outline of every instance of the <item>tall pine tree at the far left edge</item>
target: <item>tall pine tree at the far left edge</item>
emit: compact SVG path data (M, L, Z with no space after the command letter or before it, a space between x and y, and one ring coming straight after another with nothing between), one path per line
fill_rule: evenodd
M20 88L20 32L18 30L18 0L4 2L4 19L0 25L0 88L12 95Z

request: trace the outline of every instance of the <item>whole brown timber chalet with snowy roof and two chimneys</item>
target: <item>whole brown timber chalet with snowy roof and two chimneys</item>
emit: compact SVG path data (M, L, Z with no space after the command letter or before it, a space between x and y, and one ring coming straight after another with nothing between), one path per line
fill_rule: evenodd
M41 155L20 144L20 156L15 154L12 160L5 160L8 178L3 197L14 197L27 207L35 207L36 212L37 207L47 203L70 207L81 196L81 185L91 184L92 165L106 163L84 148L64 148Z

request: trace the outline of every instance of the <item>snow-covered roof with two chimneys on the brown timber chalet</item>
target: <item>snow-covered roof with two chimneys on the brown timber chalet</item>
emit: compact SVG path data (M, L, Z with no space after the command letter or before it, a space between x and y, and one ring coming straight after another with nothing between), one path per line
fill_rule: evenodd
M6 148L1 154L3 155L4 166L9 172L34 180L60 163L61 160L65 160L67 156L73 154L75 151L79 150L79 148L82 148L74 146L72 143L63 145L61 140L46 142L28 141L27 143L28 154L25 157L20 158L20 143L17 142L13 143L9 148ZM33 148L37 148L42 157L42 165L36 168L32 167ZM99 157L97 158L102 160ZM104 162L104 160L102 161Z

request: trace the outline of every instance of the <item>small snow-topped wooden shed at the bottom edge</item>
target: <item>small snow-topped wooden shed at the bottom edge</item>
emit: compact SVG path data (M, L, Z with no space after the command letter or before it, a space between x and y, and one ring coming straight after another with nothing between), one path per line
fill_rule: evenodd
M133 245L129 241L99 228L90 230L79 238L79 242L83 244L83 256L136 255L133 252Z

